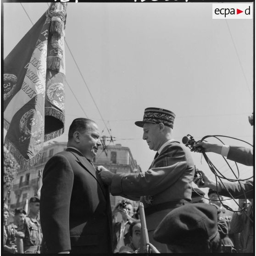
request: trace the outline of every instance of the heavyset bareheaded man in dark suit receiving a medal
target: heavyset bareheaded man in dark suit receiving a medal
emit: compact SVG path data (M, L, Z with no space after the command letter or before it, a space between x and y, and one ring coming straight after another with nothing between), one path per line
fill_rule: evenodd
M111 253L108 189L92 163L100 143L97 124L73 120L67 150L46 163L40 220L49 253Z

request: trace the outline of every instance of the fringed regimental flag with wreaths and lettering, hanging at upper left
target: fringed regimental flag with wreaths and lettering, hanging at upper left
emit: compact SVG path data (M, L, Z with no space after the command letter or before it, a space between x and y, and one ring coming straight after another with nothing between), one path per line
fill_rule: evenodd
M25 169L64 132L66 11L52 3L4 60L4 144Z

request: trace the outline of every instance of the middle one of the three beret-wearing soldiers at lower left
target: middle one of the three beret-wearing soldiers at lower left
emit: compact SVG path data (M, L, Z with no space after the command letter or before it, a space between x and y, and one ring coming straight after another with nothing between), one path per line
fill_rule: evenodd
M9 225L6 226L6 233L7 233L6 245L7 246L16 248L16 234L18 231L18 226L23 223L23 220L24 220L24 217L26 217L26 214L27 214L26 211L22 208L17 208L14 210L13 223L9 223Z

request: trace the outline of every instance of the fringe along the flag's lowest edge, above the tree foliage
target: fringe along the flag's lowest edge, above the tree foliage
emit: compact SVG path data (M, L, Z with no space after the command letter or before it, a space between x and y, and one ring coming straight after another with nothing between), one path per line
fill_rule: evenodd
M5 138L4 145L6 146L6 149L11 153L11 155L15 158L15 160L18 162L18 164L21 166L21 168L25 170L28 170L31 167L33 167L43 157L43 148L39 150L39 152L32 158L25 159L8 138Z

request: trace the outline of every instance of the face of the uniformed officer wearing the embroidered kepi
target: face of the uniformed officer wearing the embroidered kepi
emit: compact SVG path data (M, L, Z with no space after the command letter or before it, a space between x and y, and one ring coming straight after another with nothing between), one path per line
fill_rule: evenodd
M145 123L143 125L143 137L147 144L149 145L150 150L157 151L160 148L160 129L158 124L154 123Z

